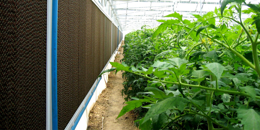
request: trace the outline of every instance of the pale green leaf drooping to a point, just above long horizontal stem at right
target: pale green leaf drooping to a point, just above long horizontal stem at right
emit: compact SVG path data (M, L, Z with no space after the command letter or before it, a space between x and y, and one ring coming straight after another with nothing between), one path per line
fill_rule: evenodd
M226 70L224 66L216 62L206 64L205 66L217 77L216 80L220 79L223 71Z

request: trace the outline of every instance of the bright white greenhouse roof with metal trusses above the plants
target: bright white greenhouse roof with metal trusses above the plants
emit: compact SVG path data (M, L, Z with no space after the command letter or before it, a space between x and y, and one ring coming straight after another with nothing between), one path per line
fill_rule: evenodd
M118 24L126 31L140 29L142 25L158 27L160 22L156 20L167 20L164 16L174 12L183 15L185 19L192 20L194 17L191 14L202 15L214 11L215 7L220 8L222 0L111 0L108 2ZM259 1L247 2L253 4Z

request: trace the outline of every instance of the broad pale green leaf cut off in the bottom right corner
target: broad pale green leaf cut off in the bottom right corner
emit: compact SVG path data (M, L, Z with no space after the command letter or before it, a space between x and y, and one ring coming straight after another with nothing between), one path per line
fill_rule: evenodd
M244 129L258 130L260 128L260 115L252 108L239 107L237 117L242 119L241 124L244 125Z

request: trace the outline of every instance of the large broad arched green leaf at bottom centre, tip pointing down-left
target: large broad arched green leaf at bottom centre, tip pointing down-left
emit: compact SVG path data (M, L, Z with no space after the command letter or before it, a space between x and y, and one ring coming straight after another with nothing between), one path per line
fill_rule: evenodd
M188 99L182 97L168 97L165 99L161 99L156 104L153 104L151 106L144 117L144 121L148 121L153 116L161 114L169 109L178 108L182 112L188 102L190 102Z

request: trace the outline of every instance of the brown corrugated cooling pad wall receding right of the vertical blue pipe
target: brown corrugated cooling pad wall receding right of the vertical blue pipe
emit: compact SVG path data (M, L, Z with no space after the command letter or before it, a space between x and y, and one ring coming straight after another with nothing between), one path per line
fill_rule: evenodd
M116 48L112 22L91 0L58 2L58 128L64 129Z

